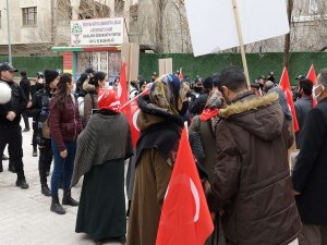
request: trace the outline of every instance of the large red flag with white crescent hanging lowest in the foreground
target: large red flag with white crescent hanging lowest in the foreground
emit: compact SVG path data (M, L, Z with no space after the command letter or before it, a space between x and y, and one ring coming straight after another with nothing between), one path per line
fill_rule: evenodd
M162 206L156 245L203 245L214 231L186 128Z

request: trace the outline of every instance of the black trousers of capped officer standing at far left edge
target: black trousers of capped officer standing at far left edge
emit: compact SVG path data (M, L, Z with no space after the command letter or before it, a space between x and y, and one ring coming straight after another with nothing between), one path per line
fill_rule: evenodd
M9 128L0 127L0 155L2 156L3 150L8 144L9 158L14 163L17 172L17 180L24 180L24 164L23 164L23 137L22 128L20 125ZM2 166L2 158L0 159Z

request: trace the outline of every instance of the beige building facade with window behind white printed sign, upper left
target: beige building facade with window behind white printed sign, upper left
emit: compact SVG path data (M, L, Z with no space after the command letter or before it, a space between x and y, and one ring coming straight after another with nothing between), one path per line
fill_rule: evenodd
M9 0L13 56L49 56L53 46L70 46L70 21L124 16L129 0ZM0 0L0 54L8 54L7 0ZM129 27L129 26L126 26Z

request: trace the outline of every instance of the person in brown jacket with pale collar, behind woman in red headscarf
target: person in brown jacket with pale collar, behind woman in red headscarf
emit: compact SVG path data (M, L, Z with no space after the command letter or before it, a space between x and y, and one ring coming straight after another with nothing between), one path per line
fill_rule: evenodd
M84 98L83 127L89 121L92 110L98 108L98 90L105 87L108 75L105 72L96 72L89 82L84 83L83 88L87 95Z

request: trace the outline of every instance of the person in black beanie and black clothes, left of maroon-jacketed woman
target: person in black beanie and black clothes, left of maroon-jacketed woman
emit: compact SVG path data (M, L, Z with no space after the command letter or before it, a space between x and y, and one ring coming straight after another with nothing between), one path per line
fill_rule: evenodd
M37 142L39 146L38 171L41 184L41 194L45 196L51 196L51 191L47 183L47 175L50 171L52 161L48 119L50 113L50 101L59 82L59 73L56 70L46 70L45 78L45 88L38 90L32 98L31 113L37 121Z

